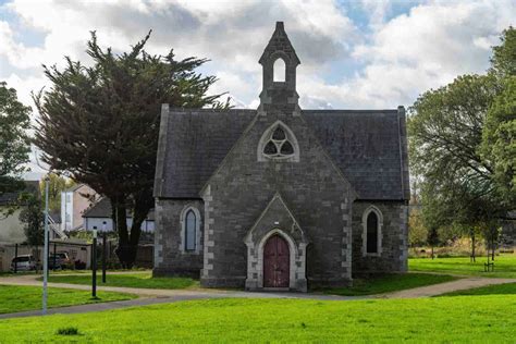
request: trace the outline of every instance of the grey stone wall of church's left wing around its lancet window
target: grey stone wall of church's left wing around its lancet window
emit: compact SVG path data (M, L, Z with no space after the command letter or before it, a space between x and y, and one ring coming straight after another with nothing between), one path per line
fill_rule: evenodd
M196 251L182 249L183 226L181 213L195 207L200 213L200 237ZM153 275L189 275L199 278L202 269L204 204L199 199L158 199L156 201L155 268Z

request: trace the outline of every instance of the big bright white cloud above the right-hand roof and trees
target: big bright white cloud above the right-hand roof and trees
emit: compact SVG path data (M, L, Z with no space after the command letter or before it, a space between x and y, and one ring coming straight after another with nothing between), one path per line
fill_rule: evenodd
M355 47L354 58L365 65L354 77L335 85L312 78L306 91L346 108L409 106L457 75L483 73L491 46L515 17L514 1L417 5L377 26L368 44Z

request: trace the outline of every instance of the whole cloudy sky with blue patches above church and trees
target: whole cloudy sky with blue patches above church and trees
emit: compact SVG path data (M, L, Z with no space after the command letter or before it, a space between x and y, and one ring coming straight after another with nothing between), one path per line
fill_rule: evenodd
M483 73L516 25L516 1L0 0L0 81L34 108L30 91L49 85L41 65L60 67L65 56L88 64L91 30L122 52L152 29L148 52L209 59L199 72L218 77L210 93L257 108L258 59L277 21L302 61L303 109L394 109Z

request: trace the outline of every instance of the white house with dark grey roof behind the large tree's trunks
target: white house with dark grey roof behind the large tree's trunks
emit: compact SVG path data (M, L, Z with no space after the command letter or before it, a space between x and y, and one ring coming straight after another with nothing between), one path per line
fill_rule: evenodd
M83 214L83 228L87 231L113 231L113 220L111 219L111 204L108 198L102 198L93 205ZM127 214L127 228L133 224L133 218ZM150 210L147 219L142 223L144 233L152 233L155 231L155 211Z

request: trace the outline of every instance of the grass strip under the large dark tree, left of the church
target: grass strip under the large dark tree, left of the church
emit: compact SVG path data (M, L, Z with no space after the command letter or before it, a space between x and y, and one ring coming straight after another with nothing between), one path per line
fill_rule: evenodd
M72 283L72 284L91 284L91 275L50 275L49 282ZM188 278L152 278L151 272L137 272L124 274L109 274L106 277L106 283L101 282L101 274L97 274L99 286L127 286L144 288L164 288L183 290L198 286L196 280Z

